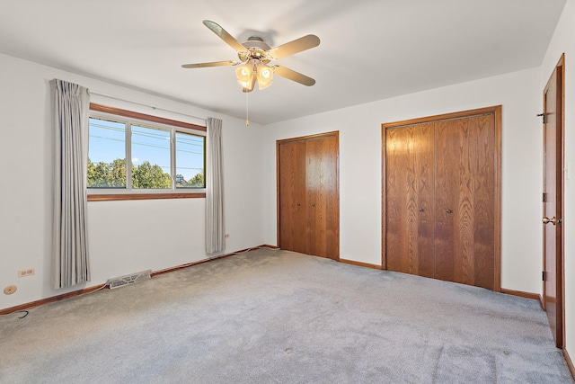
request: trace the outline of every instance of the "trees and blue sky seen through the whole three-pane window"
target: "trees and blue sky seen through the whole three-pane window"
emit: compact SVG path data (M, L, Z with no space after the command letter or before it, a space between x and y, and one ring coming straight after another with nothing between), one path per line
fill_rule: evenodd
M204 188L205 137L176 129L91 118L88 188ZM127 137L127 129L130 134ZM130 152L127 174L126 141ZM172 165L175 163L175 166Z

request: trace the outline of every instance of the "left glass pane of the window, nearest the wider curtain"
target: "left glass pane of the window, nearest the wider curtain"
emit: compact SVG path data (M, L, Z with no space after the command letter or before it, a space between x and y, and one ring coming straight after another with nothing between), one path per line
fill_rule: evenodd
M88 188L126 188L126 126L90 119Z

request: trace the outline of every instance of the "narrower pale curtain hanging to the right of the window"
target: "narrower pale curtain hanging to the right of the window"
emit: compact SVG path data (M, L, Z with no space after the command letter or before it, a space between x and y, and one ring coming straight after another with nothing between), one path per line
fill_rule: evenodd
M222 177L222 121L208 118L207 129L206 253L209 255L226 249L226 228Z

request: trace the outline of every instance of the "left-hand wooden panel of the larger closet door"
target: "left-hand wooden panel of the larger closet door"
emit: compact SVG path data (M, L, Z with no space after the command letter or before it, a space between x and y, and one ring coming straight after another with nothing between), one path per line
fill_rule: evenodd
M434 277L433 124L385 135L386 269Z

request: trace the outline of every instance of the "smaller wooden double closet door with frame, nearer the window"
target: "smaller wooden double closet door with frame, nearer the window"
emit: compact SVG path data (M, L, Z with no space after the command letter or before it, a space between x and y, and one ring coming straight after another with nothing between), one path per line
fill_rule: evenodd
M277 154L279 247L338 260L338 132L279 140Z

